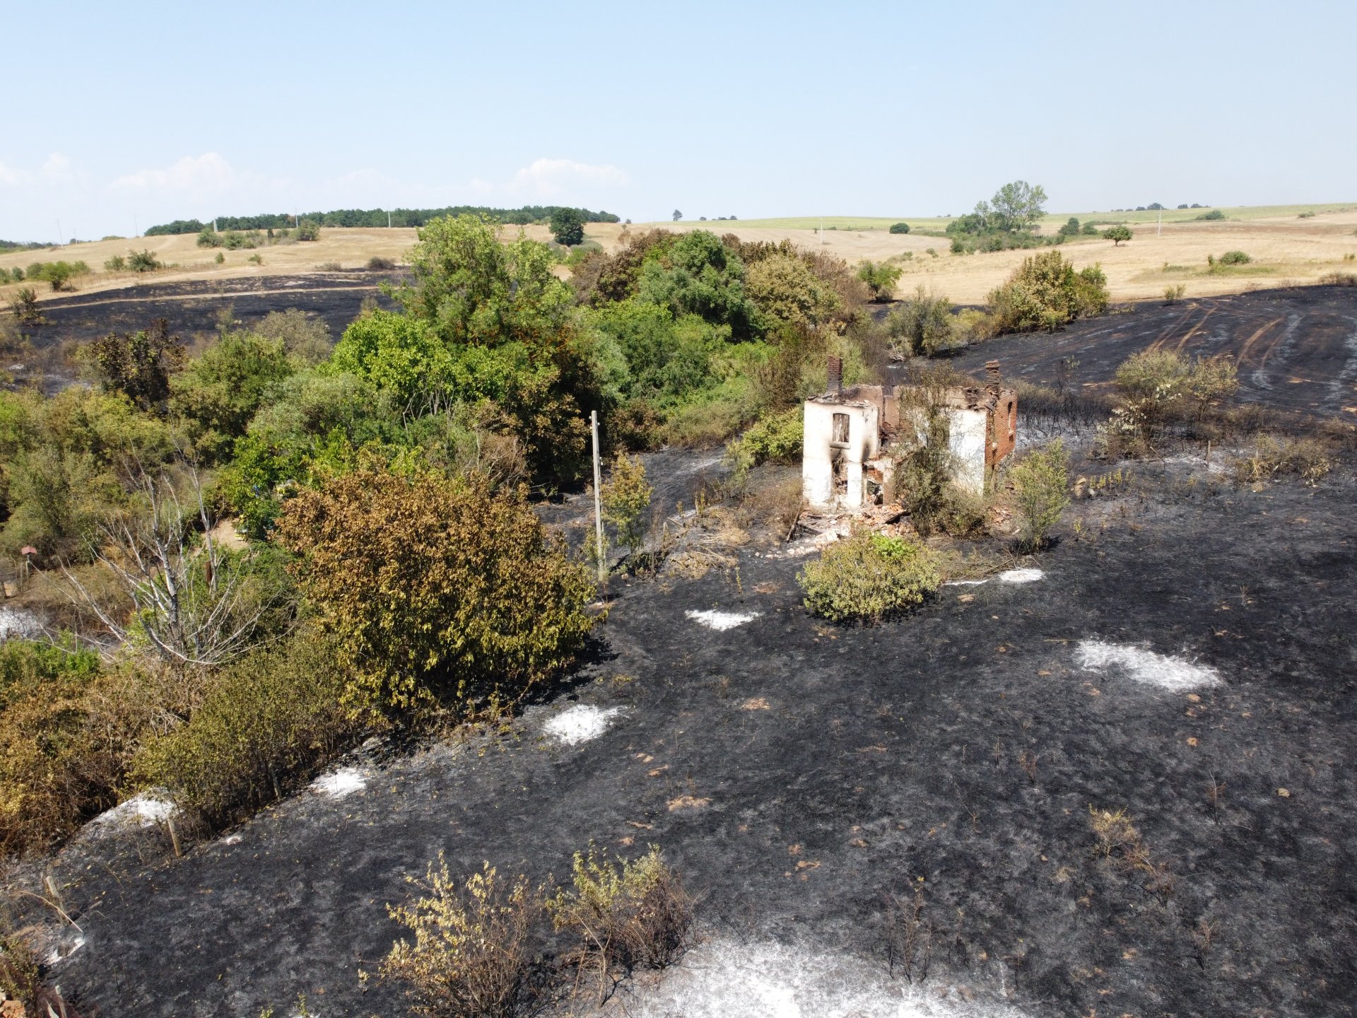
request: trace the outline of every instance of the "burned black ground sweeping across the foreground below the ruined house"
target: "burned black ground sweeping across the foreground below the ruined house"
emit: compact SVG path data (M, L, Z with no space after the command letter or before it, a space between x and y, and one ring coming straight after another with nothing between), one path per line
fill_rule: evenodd
M357 969L396 935L406 874L445 850L541 878L593 839L661 844L708 928L866 957L881 892L923 877L946 930L932 979L1015 983L1031 1014L1349 1014L1353 486L1143 483L1082 504L1041 581L944 588L875 628L817 624L799 562L752 551L738 574L626 584L589 681L512 736L368 763L366 789L299 795L233 844L62 874L85 943L54 975L107 1015L297 992L327 1018L394 1014ZM711 607L759 616L684 615ZM1080 671L1087 638L1225 684L1191 700ZM556 745L541 722L574 699L624 714ZM1128 810L1171 894L1095 858L1091 806Z

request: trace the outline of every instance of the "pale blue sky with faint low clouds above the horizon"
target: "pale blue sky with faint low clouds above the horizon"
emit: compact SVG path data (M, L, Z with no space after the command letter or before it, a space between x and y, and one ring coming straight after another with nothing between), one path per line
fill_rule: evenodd
M14 4L0 238L1357 200L1357 3Z

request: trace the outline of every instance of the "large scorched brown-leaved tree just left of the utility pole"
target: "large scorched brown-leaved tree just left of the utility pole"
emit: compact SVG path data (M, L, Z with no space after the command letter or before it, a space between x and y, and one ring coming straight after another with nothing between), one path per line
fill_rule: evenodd
M364 467L292 498L278 535L351 669L356 710L514 702L594 623L588 571L521 494L491 494L483 478Z

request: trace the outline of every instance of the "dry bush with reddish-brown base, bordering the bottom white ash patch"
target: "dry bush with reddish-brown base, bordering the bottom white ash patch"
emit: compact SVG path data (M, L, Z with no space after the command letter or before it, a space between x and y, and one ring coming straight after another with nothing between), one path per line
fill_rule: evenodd
M660 846L622 862L590 846L575 852L571 878L547 908L558 931L578 938L571 960L579 970L598 972L600 1000L616 984L616 970L664 969L687 949L693 903Z

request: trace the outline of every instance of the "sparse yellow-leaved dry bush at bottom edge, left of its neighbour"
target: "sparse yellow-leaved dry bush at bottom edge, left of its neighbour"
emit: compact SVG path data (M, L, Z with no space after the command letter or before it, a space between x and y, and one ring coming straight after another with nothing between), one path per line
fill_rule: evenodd
M425 880L407 880L422 896L387 911L410 928L414 941L392 946L381 977L407 983L414 1013L427 1018L529 1014L544 981L531 953L543 912L541 890L525 877L501 877L490 863L459 885L442 852Z

